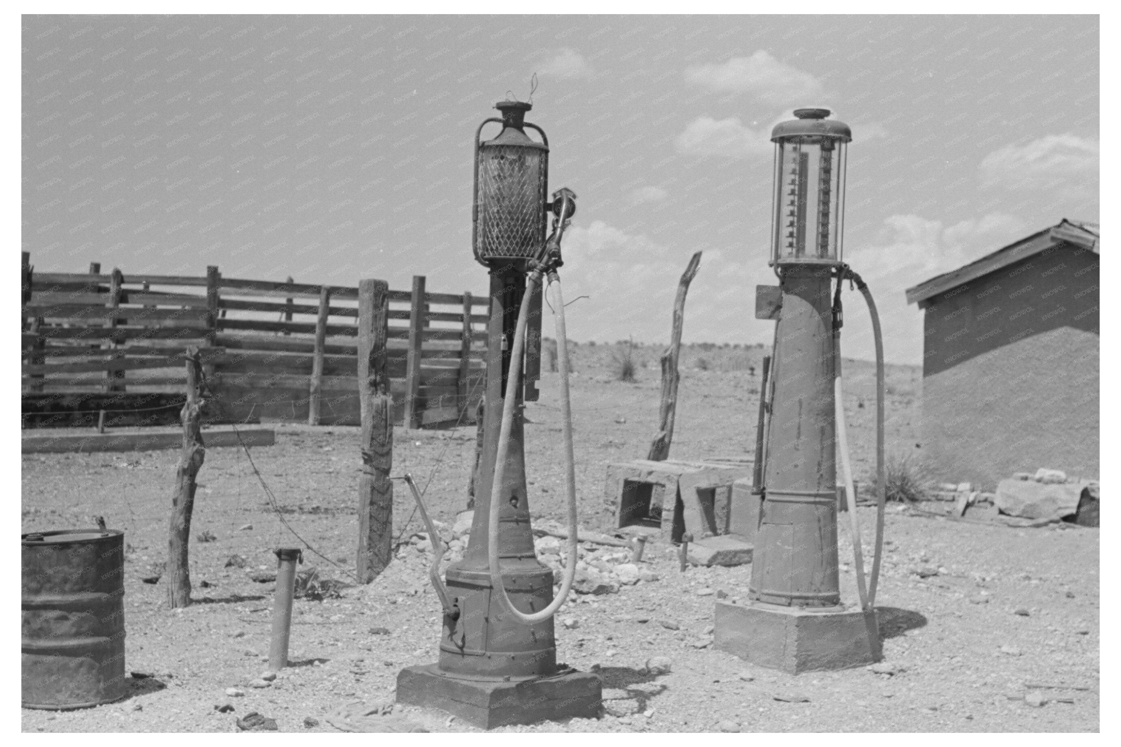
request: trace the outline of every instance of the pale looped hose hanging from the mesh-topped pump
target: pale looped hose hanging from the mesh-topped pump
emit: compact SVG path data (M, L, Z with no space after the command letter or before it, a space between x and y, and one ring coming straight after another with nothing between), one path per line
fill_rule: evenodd
M534 286L539 282L539 275L531 273L526 283L526 294L521 298L521 308L518 311L518 322L513 332L513 345L510 350L510 368L507 376L507 390L510 393L502 405L502 427L499 430L498 450L494 459L494 485L491 487L490 516L487 523L487 560L490 565L491 588L494 594L502 600L502 605L513 617L522 622L541 622L553 617L560 608L568 591L572 589L576 578L576 548L580 537L576 526L576 465L573 457L572 444L572 406L568 402L568 340L565 335L564 323L564 297L560 294L560 279L555 273L549 274L552 288L556 286L553 299L553 319L556 323L557 335L557 362L560 368L560 416L564 431L564 457L565 457L565 494L568 498L568 562L565 564L564 577L560 581L560 591L556 598L545 609L525 614L515 609L513 602L506 593L506 584L502 582L502 568L498 556L498 525L499 525L499 500L502 494L502 478L506 472L506 457L510 451L510 428L513 424L513 403L517 396L513 395L512 387L518 386L518 377L521 374L521 353L526 343L526 322L529 319L529 301L534 294Z

